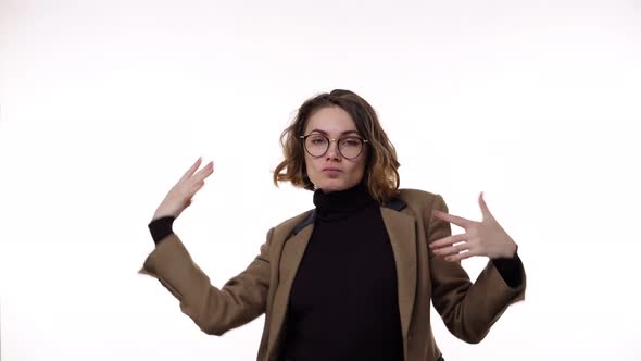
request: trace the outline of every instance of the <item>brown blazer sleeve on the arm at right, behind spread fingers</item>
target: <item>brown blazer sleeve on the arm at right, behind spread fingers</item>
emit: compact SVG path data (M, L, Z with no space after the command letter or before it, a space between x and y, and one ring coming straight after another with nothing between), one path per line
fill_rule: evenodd
M452 234L450 223L433 216L432 209L448 212L440 195L425 214L428 242ZM521 273L523 282L512 288L491 260L473 284L461 262L445 261L442 256L436 256L431 250L428 252L433 306L448 329L466 343L481 341L510 304L525 299L525 270L520 262L517 272Z

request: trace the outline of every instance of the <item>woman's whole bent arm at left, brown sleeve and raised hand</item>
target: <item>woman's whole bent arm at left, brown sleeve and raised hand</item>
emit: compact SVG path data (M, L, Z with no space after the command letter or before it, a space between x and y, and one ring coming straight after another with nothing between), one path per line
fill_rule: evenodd
M150 223L156 247L144 261L141 274L160 281L180 302L181 311L205 333L222 335L243 325L265 312L269 288L269 242L261 246L260 254L222 288L213 286L208 275L193 262L189 252L172 231L172 222L189 204L193 195L213 173L209 163L196 173L200 159L169 190Z

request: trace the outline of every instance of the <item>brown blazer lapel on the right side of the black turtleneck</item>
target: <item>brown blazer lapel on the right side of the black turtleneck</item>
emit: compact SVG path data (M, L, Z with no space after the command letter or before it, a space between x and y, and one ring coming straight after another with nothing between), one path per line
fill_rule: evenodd
M415 220L410 215L385 207L380 209L380 213L394 252L399 285L399 312L401 314L403 343L405 343L416 294Z

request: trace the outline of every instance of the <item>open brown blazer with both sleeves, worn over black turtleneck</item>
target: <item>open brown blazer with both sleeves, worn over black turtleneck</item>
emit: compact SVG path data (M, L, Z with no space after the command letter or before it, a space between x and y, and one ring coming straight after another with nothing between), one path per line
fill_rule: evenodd
M427 245L451 231L431 215L432 209L448 211L441 196L414 189L402 189L380 209L397 265L406 361L435 361L441 354L431 332L430 300L453 335L479 343L507 306L525 298L523 267L518 288L508 287L491 261L472 284L458 262L435 256ZM156 246L140 273L156 277L208 334L223 335L265 313L257 360L276 361L291 284L313 228L313 211L273 227L255 260L223 288L211 285L176 235Z

